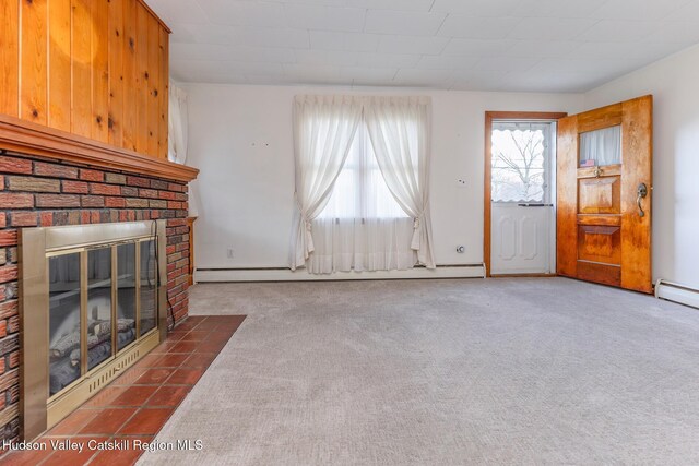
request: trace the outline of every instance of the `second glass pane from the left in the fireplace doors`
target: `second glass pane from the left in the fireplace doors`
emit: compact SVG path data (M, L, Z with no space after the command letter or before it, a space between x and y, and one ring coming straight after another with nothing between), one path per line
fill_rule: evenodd
M111 356L111 248L87 251L87 369Z

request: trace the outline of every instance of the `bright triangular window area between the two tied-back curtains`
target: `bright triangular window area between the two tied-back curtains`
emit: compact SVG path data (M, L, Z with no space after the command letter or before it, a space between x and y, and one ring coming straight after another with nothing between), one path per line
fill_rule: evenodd
M404 218L407 214L389 191L376 159L367 127L357 128L345 165L319 218Z

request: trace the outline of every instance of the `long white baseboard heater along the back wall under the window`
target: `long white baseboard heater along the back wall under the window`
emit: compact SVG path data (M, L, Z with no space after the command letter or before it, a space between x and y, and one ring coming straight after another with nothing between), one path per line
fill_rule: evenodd
M422 266L406 271L336 272L309 274L306 268L197 268L194 282L317 282L350 279L410 279L410 278L485 278L485 264L437 265L435 270Z

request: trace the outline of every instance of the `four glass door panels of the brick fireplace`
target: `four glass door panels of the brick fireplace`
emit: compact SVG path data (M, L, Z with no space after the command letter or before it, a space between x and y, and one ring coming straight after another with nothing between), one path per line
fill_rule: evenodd
M154 250L144 238L49 256L50 396L155 328Z

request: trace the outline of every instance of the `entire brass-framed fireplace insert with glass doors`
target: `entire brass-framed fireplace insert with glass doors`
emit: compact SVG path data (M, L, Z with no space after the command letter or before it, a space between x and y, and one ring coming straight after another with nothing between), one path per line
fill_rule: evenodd
M22 230L25 439L52 427L165 338L165 226Z

